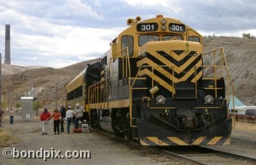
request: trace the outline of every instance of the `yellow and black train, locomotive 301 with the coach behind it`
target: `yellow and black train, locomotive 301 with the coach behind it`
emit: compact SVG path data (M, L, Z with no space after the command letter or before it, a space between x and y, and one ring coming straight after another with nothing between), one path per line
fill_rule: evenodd
M68 83L67 104L83 104L92 126L141 145L229 144L223 48L203 54L198 32L163 15L127 25L100 62Z

